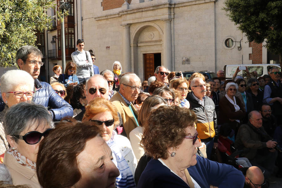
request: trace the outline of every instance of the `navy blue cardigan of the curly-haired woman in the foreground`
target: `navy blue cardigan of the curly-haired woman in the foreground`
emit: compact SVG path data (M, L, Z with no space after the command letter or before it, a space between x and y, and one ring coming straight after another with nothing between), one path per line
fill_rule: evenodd
M197 156L197 164L187 168L191 177L201 188L210 185L218 188L243 188L245 177L233 166L217 163ZM182 179L172 173L159 160L151 159L143 171L138 188L190 188Z

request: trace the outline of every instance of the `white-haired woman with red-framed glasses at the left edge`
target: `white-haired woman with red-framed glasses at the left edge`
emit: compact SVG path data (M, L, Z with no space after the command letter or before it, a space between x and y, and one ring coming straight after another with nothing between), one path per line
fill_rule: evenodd
M0 112L0 154L3 154L9 148L2 124L4 115L8 107L31 101L34 94L34 79L24 70L8 70L1 76L0 85L3 101L6 104L4 110Z

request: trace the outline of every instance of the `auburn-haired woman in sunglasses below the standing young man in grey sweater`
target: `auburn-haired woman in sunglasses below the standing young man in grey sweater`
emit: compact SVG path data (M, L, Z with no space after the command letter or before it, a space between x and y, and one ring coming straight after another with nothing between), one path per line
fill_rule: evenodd
M59 76L58 82L64 84L65 87L73 84L79 84L76 76L76 64L74 64L74 62L68 62L65 66L65 73Z

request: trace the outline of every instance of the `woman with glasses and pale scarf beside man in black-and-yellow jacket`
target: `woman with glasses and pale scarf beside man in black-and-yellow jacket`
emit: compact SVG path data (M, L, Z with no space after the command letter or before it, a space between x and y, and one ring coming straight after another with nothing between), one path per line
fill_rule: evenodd
M190 108L190 103L186 99L189 89L188 81L184 78L178 78L175 81L173 81L172 88L180 92L181 107Z

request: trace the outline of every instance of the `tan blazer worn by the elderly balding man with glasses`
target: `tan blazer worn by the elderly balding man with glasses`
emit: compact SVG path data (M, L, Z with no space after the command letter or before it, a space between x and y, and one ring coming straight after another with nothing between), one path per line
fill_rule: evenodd
M121 97L121 95L118 92L116 94L114 94L114 96L112 96L110 101L118 109L118 112L123 119L123 128L125 130L127 137L129 138L129 133L134 128L137 127L137 123L136 123L136 121L133 117L132 112L130 111L128 105L126 104L126 102L123 100L123 98ZM134 113L134 115L137 119L138 118L138 112L136 111L135 107L132 104L131 104L131 107L132 107L133 113Z

